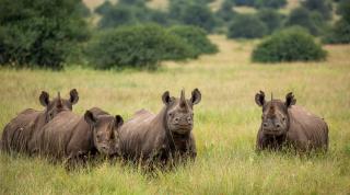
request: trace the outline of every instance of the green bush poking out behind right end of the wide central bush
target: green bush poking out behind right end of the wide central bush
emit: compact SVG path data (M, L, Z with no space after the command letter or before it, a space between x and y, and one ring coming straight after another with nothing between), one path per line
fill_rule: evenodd
M207 33L202 28L178 25L171 27L168 32L182 37L186 44L191 46L195 56L214 54L218 51L218 47L209 41Z

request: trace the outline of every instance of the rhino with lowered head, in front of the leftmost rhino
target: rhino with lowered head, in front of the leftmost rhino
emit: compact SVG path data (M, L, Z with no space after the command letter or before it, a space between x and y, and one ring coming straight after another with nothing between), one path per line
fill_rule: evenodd
M72 112L61 112L43 128L38 136L39 152L56 160L68 159L69 164L82 157L119 154L119 115L112 116L94 107L81 117Z

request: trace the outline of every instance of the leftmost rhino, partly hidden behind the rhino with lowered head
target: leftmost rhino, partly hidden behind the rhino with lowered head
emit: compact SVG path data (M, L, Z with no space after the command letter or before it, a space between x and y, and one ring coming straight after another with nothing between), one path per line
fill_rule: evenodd
M60 94L54 100L49 100L49 94L45 91L39 96L39 102L45 106L44 111L27 108L4 127L1 137L1 149L10 152L24 152L31 154L33 137L39 134L42 127L63 111L71 111L72 105L79 101L75 89L69 93L69 99L61 99Z

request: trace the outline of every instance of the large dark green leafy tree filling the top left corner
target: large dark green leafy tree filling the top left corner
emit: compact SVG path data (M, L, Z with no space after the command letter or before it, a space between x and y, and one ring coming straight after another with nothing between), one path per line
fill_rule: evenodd
M62 68L88 31L80 0L0 0L0 64Z

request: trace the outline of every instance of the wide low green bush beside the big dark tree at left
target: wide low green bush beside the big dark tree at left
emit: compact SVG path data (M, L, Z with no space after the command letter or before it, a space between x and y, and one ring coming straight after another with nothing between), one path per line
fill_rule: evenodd
M155 69L161 60L194 58L192 48L159 25L124 26L106 31L89 44L86 55L98 69Z

